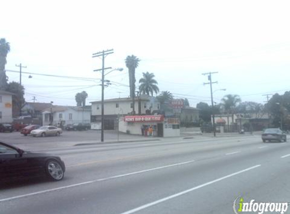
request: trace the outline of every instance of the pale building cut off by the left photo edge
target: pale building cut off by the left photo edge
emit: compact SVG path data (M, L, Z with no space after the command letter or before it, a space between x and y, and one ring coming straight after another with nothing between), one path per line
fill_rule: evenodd
M7 91L0 91L0 123L11 123L12 118L12 95Z

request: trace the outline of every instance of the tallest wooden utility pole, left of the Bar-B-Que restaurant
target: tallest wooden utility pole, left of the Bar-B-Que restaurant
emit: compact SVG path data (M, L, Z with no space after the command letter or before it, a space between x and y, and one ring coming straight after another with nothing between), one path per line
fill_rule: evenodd
M99 70L102 70L102 116L101 116L101 142L104 141L104 76L105 76L105 69L111 69L111 67L105 67L105 57L109 54L112 54L113 49L111 50L106 50L106 51L100 51L98 53L94 53L93 57L102 57L102 68L94 70L94 72L97 72Z

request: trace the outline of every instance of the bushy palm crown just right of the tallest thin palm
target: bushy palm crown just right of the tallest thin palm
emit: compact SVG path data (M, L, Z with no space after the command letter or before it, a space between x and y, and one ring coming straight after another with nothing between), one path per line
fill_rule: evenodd
M154 80L154 74L153 73L143 73L143 78L139 80L140 86L139 91L140 93L149 95L151 93L151 96L153 96L153 92L157 94L159 92L159 88L157 87L157 81Z

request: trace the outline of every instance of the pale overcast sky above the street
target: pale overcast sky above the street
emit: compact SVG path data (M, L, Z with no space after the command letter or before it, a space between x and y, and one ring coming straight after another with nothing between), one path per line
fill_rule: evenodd
M160 91L188 98L191 106L238 94L242 101L264 103L263 94L290 90L288 1L5 1L1 4L0 38L11 45L7 70L101 78L93 72L102 60L92 54L114 49L105 66L123 67L106 76L115 84L105 98L127 97L125 59L141 59L143 72L154 73ZM19 82L19 73L7 72ZM83 90L88 102L101 99L100 82L22 75L26 101L75 105ZM127 85L127 86L126 86ZM219 91L224 89L226 91ZM118 93L120 92L120 93Z

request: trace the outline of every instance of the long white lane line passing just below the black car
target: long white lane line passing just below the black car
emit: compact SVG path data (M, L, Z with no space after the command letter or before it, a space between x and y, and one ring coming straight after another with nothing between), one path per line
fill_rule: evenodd
M24 195L18 195L18 196L14 196L14 197L10 197L10 198L3 198L3 199L0 199L0 202L9 201L9 200L18 199L18 198L23 198L23 197L27 197L27 196L33 196L33 195L48 193L48 192L53 192L53 191L56 191L56 190L62 190L62 189L67 189L67 188L71 188L71 187L77 187L77 186L81 186L81 185L91 184L91 183L94 183L94 182L107 181L107 180L111 180L111 179L116 179L118 177L125 177L125 176L129 176L129 175L133 175L133 174L139 174L139 173L143 173L143 172L148 172L148 171L153 171L153 170L158 170L158 169L163 169L163 168L168 168L168 167L173 167L173 166L179 166L179 165L188 164L188 163L192 163L192 162L194 162L194 160L186 161L186 162L182 162L182 163L175 163L175 164L166 165L166 166L160 166L160 167L151 168L151 169L145 169L145 170L136 171L136 172L130 172L130 173L126 173L126 174L115 175L115 176L111 176L111 177L106 177L104 179L96 179L96 180L93 180L93 181L88 181L88 182L68 185L68 186L64 186L64 187L58 187L58 188L43 190L43 191L34 192L34 193L28 193L28 194L24 194Z

